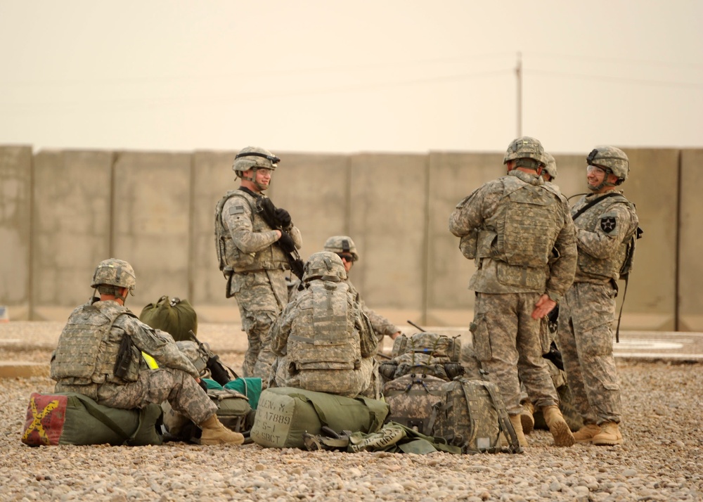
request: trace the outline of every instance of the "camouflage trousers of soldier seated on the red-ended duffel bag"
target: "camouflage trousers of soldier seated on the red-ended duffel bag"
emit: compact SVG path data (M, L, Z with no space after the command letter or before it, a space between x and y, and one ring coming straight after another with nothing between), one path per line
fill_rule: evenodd
M203 423L217 412L217 405L207 397L195 378L172 368L140 371L136 382L123 385L103 383L98 387L96 401L104 406L124 409L168 401L174 410L196 424Z

